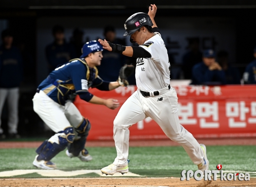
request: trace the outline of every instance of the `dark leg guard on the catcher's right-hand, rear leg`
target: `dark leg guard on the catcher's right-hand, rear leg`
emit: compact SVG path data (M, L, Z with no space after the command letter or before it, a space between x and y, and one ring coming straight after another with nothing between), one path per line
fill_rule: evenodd
M87 136L89 135L89 131L91 129L90 121L85 118L81 125L75 128L76 132L78 132L78 136L80 137L77 140L74 140L73 143L68 145L68 152L72 153L74 156L78 156L80 151L84 155L88 154L88 151L84 148L86 143Z

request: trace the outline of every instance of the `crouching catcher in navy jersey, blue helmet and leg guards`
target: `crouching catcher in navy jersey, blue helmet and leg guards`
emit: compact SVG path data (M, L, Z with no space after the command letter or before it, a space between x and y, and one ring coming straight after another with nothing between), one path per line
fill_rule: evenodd
M56 165L50 160L66 147L68 157L78 157L81 161L92 160L84 148L91 128L90 121L80 114L72 100L78 94L84 101L116 109L119 106L117 100L104 100L91 94L88 89L96 87L107 91L127 86L126 78L134 69L133 66L125 65L120 70L118 81L103 81L95 67L101 64L102 51L99 42L87 42L82 48L83 54L80 58L57 67L38 86L33 98L34 111L56 134L37 148L33 161L35 167L54 169Z

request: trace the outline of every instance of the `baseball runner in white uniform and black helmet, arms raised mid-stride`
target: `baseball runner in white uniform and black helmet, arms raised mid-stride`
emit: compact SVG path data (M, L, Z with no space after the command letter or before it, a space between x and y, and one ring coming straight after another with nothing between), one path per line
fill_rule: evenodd
M136 57L136 85L138 90L121 106L114 120L114 141L117 157L113 164L101 169L102 174L113 175L128 172L129 127L151 117L171 140L180 143L193 163L201 171L208 170L206 147L179 123L178 98L170 87L170 63L165 43L154 21L156 5L149 7L148 14L135 13L124 24L124 36L139 46L120 46L99 39L103 48ZM153 26L153 27L152 27Z

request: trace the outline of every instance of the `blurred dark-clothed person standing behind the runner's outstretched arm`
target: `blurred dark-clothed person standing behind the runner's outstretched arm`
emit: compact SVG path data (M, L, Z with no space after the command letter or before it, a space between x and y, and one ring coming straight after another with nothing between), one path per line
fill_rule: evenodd
M104 30L105 39L111 43L125 46L125 41L116 38L116 30L113 26L107 26ZM102 52L103 59L101 65L98 66L99 77L105 81L116 81L118 79L119 70L125 64L124 55L104 50ZM131 76L132 77L132 76Z

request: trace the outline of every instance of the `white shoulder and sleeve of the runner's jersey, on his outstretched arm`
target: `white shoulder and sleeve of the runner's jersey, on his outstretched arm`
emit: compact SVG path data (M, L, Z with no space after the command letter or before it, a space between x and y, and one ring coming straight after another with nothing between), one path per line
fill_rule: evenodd
M161 57L161 50L160 50L159 43L155 39L153 39L153 38L149 39L144 44L140 45L139 47L142 47L144 50L149 52L149 54L151 55L150 58L146 58L146 59L151 59L156 62L159 62L159 59Z

